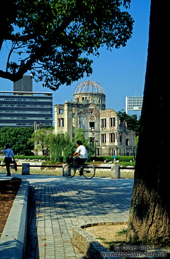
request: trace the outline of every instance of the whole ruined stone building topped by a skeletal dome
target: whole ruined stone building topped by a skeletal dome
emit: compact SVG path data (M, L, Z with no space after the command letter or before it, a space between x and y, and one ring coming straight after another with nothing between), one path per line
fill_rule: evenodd
M74 101L55 105L55 133L67 132L72 140L74 129L85 129L86 137L96 144L96 155L135 155L135 132L120 123L113 109L106 109L103 87L84 81L74 89Z

